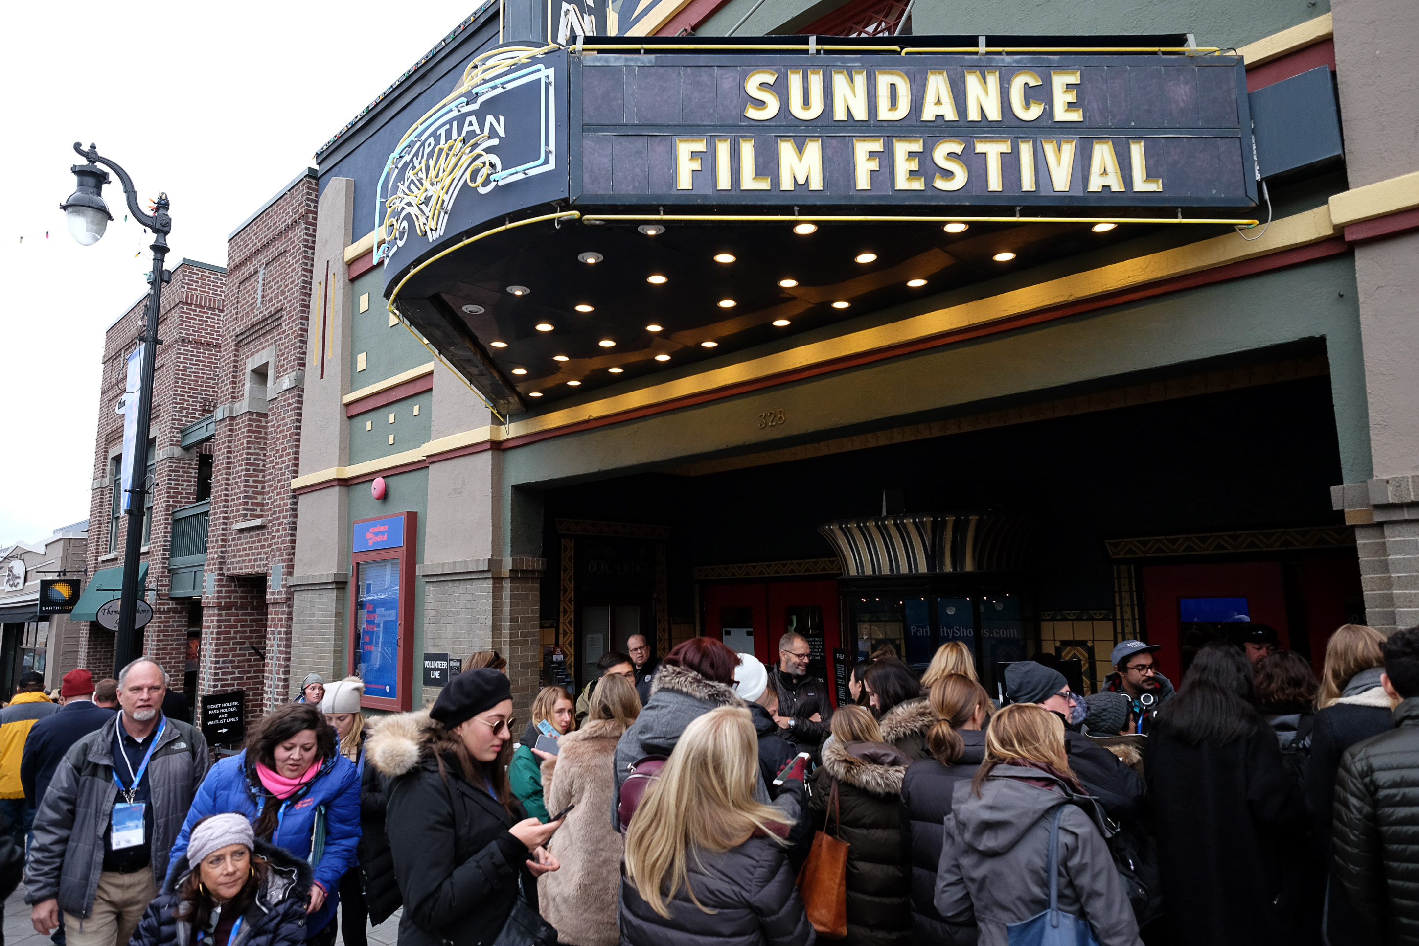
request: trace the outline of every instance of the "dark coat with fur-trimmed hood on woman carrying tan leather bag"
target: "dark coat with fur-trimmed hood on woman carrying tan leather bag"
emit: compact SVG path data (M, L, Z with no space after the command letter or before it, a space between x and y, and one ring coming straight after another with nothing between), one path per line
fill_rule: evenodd
M901 807L901 777L911 759L884 742L830 739L813 774L813 814L847 841L849 946L910 946L911 830ZM832 810L833 783L837 807Z

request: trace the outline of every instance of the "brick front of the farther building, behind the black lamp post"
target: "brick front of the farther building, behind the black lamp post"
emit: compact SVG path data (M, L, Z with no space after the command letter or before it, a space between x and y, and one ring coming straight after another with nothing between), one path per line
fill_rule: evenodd
M200 420L213 408L211 379L217 372L221 347L221 306L226 272L220 267L183 261L172 271L172 282L163 286L162 311L158 319L156 367L153 372L153 406L150 437L155 441L156 471L152 484L153 503L149 508L152 528L148 550L149 604L153 620L143 631L143 650L155 657L180 688L187 647L189 603L167 597L167 540L172 512L197 501L197 451L182 448L182 428ZM123 564L123 542L128 516L118 523L116 542L109 512L118 485L111 477L109 455L122 447L123 418L114 406L123 393L128 377L126 357L142 335L148 296L139 299L122 318L109 326L104 339L102 384L99 389L98 430L94 443L94 481L89 501L89 542L85 555L88 573ZM143 461L143 447L138 447L135 462ZM78 662L95 678L114 672L114 634L96 621L79 623Z

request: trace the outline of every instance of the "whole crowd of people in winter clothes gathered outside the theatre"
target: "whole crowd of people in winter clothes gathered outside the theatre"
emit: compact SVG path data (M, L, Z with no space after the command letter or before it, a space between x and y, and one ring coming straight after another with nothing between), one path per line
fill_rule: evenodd
M959 641L876 651L843 705L778 644L636 635L522 728L494 651L410 713L312 674L220 759L153 660L26 677L0 892L23 865L68 946L365 946L399 911L410 946L1419 942L1419 628L1347 624L1318 677L1249 628L1176 686L1128 640L1095 694L1040 657L999 703Z

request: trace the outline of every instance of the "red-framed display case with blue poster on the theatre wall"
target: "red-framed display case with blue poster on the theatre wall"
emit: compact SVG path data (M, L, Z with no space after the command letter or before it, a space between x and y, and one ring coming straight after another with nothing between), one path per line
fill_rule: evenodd
M413 691L414 546L419 513L359 519L350 560L350 672L362 706L407 711Z

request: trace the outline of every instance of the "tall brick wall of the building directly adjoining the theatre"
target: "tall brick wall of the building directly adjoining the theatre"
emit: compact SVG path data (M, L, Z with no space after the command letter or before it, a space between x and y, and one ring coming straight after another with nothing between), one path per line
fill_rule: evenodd
M244 689L248 720L284 702L291 665L316 197L314 177L297 179L227 247L200 688Z

